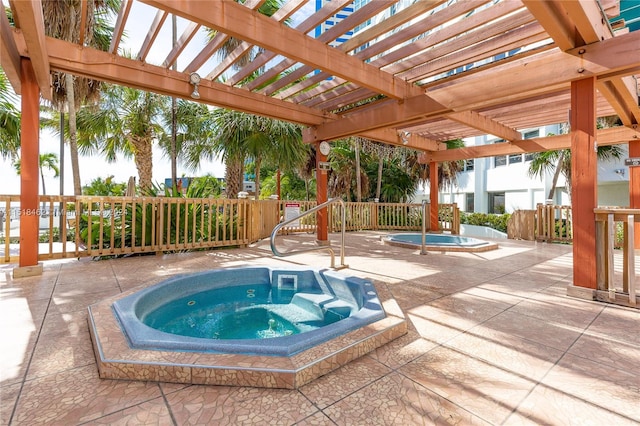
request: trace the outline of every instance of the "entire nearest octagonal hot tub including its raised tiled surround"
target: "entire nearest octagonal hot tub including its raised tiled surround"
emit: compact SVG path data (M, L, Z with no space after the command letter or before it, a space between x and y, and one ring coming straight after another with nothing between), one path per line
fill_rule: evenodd
M407 332L381 289L330 270L207 271L89 306L89 332L103 379L296 389Z

